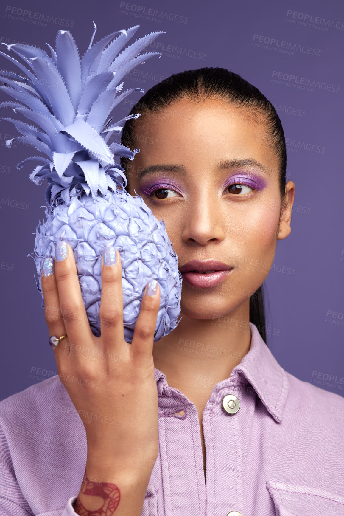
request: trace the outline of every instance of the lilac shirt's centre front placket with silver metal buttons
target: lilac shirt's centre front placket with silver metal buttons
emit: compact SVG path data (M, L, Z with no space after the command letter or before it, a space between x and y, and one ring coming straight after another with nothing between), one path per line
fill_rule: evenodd
M157 382L160 464L155 467L161 474L166 516L245 516L243 456L255 392L243 375L232 373L215 385L203 412L206 483L197 409L167 384L165 375ZM175 414L180 411L185 414Z

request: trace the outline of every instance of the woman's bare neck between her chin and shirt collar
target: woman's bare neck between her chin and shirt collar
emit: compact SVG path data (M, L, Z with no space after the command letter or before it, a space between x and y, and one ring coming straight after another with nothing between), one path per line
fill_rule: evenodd
M216 383L228 378L251 345L249 300L214 319L186 315L154 344L154 365L171 387L192 398L208 399Z

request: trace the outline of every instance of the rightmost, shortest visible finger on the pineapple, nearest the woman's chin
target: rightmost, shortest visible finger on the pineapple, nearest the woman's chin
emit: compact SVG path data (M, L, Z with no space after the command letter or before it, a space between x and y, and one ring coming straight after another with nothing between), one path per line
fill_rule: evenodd
M157 280L151 280L144 289L140 313L135 323L131 352L151 356L159 305L160 286Z

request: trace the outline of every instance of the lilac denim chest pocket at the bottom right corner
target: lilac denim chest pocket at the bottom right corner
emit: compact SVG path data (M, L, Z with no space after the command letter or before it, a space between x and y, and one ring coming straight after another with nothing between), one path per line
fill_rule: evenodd
M344 516L344 498L329 491L267 480L276 516Z

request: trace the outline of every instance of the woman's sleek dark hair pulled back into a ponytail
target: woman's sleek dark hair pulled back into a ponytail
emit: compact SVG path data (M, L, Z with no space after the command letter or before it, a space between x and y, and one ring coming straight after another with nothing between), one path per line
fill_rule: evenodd
M279 162L277 173L282 215L282 210L285 207L287 154L281 120L271 102L240 75L225 68L200 68L173 74L149 89L132 108L130 115L140 113L141 117L138 119L140 121L145 114L161 112L177 100L187 98L195 102L202 102L213 97L222 98L237 107L247 108L250 116L256 117L257 121L264 121L267 131L262 133L261 136L266 138L271 145ZM121 141L130 149L137 147L137 142L135 142L135 126L137 123L136 119L132 118L127 120L123 127ZM128 168L130 163L128 158L121 158L121 165L124 170ZM127 191L130 187L129 175L126 173ZM258 328L266 343L265 310L261 286L250 297L250 321Z

